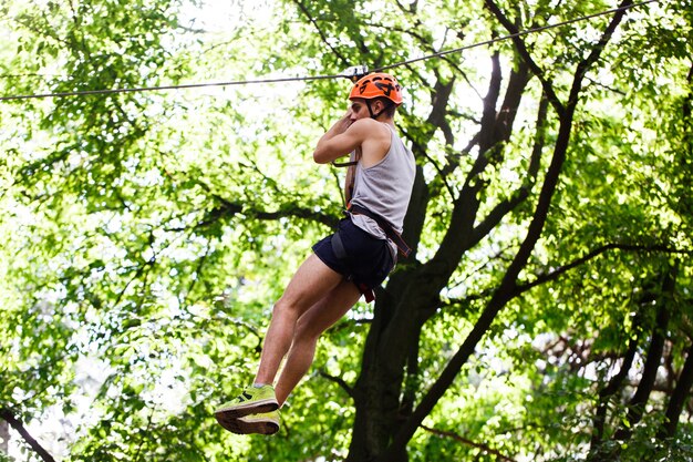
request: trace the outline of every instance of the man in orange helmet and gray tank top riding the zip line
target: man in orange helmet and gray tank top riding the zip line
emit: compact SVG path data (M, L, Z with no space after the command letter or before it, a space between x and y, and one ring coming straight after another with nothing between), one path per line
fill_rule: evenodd
M320 138L313 153L319 164L351 153L348 218L340 222L337 233L313 246L314 253L275 305L254 384L215 411L217 421L234 433L279 430L279 408L308 372L320 335L361 295L373 299L373 288L394 267L397 247L408 253L400 234L415 164L395 133L400 84L389 74L369 74L354 84L349 100L346 114Z

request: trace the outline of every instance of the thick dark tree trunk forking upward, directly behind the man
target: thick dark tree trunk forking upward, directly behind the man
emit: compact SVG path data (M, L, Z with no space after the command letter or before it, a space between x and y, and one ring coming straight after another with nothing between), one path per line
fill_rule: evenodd
M439 292L455 271L464 253L485 236L485 233L474 233L479 206L478 193L483 185L482 182L475 183L473 178L492 164L487 153L494 151L511 133L514 115L529 81L526 66L520 65L518 71L510 74L511 84L508 85L500 111L503 115L497 116L496 104L499 99L501 75L498 57L494 55L492 60L494 66L488 93L484 99L482 136L478 136L484 146L479 151L475 168L469 173L472 179L466 182L454 203L447 236L436 256L424 265L415 260L414 251L406 261L403 261L403 268L391 276L386 290L377 294L374 321L369 331L362 370L354 389L356 420L348 461L365 461L382 454L391 446L402 423L412 414L414 403L411 393L403 391L403 387L412 380L417 380L415 352L418 349L422 327L436 312ZM443 86L446 91L435 95L434 112L428 119L430 122L443 120L435 114L445 112L447 96L452 90L447 85ZM506 107L507 104L513 106ZM433 134L433 131L428 131L426 136L430 138ZM425 144L425 142L416 144L414 151L424 150ZM421 152L415 154L425 155ZM499 160L496 158L496 162ZM404 235L414 249L421 240L427 202L427 185L420 168L407 211ZM487 222L499 222L515 205L517 204L507 204L503 213ZM408 379L405 379L405 373ZM391 448L389 458L397 462L407 460L406 446Z

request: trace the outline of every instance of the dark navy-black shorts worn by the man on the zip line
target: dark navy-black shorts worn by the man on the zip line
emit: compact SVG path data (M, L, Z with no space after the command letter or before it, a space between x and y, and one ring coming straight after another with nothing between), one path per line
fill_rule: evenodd
M332 249L332 236L313 246L313 251L332 270L352 280L361 291L381 285L394 267L392 251L386 239L379 239L354 225L351 219L342 219L337 228L342 238L346 258L341 259Z

